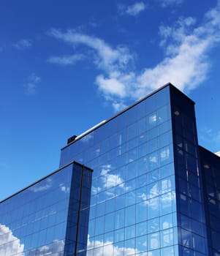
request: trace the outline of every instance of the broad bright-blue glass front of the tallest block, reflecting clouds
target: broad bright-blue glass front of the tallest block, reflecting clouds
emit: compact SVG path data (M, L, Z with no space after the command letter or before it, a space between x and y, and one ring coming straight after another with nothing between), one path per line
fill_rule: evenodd
M87 255L178 255L170 87L61 151L94 170Z

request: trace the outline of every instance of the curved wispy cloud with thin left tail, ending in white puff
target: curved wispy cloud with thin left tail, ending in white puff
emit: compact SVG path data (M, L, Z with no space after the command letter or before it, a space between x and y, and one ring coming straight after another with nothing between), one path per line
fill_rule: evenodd
M121 77L122 75L121 72L127 72L128 67L133 66L134 58L128 48L121 45L112 48L102 39L80 34L74 30L62 32L58 29L52 29L49 34L70 45L86 45L91 48L94 51L91 54L91 57L94 58L94 64L97 69L103 71L102 74L96 77L96 85L99 91L102 91L107 100L114 103L115 108L123 105L123 103L115 101L113 97L116 96L121 99L126 97L125 82L133 76L132 73L126 75L124 73L122 80L118 80L118 76ZM105 74L107 74L107 77Z

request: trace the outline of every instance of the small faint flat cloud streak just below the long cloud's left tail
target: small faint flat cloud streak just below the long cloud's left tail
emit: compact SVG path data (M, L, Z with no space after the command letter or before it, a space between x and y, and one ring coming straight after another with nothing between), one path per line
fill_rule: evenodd
M48 62L60 65L75 64L77 61L85 59L83 54L74 54L69 56L53 56L48 59Z

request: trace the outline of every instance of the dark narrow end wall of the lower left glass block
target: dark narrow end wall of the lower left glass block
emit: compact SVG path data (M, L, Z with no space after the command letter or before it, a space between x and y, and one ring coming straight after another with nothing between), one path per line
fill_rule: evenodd
M74 162L64 255L86 255L92 170Z

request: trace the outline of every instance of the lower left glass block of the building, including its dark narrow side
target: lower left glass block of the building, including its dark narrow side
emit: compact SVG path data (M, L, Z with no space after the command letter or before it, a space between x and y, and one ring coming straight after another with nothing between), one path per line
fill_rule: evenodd
M90 191L91 170L74 162L2 201L0 255L63 256L85 249Z

